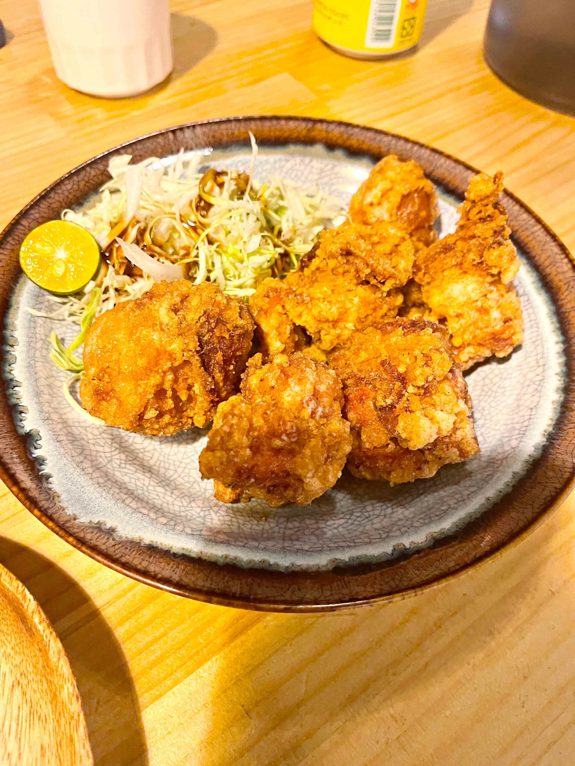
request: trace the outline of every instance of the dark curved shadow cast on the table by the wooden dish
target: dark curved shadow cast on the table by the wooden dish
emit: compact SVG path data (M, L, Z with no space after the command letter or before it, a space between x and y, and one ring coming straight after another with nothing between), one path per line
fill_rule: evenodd
M146 738L126 657L94 602L61 568L25 545L0 538L0 562L35 597L66 650L95 766L147 766Z

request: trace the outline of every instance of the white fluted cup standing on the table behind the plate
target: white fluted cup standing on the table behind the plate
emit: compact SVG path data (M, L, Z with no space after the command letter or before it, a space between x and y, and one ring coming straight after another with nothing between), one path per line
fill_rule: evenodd
M58 77L94 96L136 96L172 71L169 0L39 0Z

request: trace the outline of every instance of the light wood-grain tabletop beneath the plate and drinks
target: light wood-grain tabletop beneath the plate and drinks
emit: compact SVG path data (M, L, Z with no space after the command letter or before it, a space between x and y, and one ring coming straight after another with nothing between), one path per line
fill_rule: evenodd
M34 0L2 0L0 224L114 144L192 119L330 116L403 133L507 185L572 250L575 120L517 96L481 59L486 0L429 0L415 54L329 51L308 0L175 0L176 69L101 100L51 69ZM3 493L3 495L2 495ZM396 604L317 617L164 594L48 532L0 489L0 561L76 674L98 766L570 766L575 502L527 541Z

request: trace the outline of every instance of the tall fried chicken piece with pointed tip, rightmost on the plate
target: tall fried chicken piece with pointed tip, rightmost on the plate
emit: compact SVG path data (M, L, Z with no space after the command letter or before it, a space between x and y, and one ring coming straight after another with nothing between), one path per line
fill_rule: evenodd
M521 302L511 286L519 259L498 202L502 190L501 172L471 178L455 234L417 255L422 306L412 303L406 314L445 323L463 369L507 356L523 339Z

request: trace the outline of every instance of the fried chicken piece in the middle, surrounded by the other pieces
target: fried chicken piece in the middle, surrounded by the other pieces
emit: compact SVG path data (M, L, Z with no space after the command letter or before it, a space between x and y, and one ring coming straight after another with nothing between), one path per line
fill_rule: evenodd
M324 231L297 271L264 280L250 298L266 355L307 348L319 358L317 349L330 351L354 329L396 316L414 260L406 232L384 221Z

